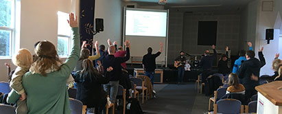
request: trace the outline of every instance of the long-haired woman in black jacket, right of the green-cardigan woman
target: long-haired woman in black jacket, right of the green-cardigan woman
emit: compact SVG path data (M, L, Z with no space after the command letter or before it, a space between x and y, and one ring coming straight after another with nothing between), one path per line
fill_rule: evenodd
M95 113L102 113L106 105L106 95L102 96L102 84L109 82L109 73L113 67L108 67L106 76L103 77L94 68L93 63L88 58L82 61L82 70L74 73L73 78L78 83L76 99L80 100L88 109L95 108Z

